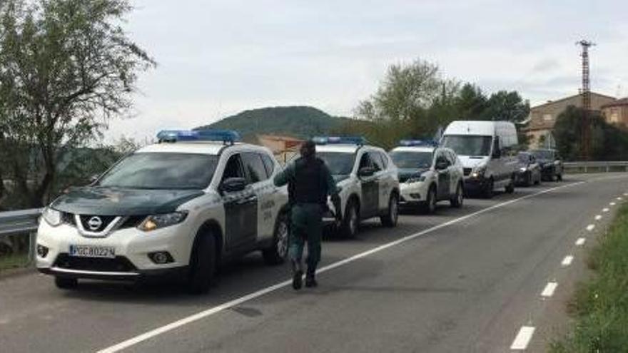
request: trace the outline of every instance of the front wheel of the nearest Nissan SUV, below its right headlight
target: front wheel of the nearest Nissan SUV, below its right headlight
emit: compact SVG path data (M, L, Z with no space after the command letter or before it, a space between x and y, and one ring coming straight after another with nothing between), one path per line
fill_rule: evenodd
M199 234L190 259L188 291L192 294L208 292L215 275L216 238L211 233Z

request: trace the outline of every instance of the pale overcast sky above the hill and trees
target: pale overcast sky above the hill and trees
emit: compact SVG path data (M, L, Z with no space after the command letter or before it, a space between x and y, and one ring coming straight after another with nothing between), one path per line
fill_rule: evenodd
M245 109L308 105L350 116L391 63L422 58L534 105L575 94L582 38L592 91L628 95L628 1L134 0L131 37L158 67L108 140L193 128Z

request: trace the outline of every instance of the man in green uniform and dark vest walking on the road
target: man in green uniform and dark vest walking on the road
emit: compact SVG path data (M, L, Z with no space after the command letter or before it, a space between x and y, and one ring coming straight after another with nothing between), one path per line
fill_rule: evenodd
M320 261L320 240L323 237L323 213L327 210L327 197L336 210L340 210L338 188L327 165L316 158L316 145L306 141L300 148L301 157L290 163L275 176L275 185L288 184L290 199L290 248L288 254L293 267L293 288L303 284L303 247L308 242L308 272L305 287L316 287L315 272ZM340 212L336 212L336 218Z

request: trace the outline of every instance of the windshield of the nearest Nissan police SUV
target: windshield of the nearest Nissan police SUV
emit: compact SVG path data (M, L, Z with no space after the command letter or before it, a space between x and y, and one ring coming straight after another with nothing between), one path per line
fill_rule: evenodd
M192 153L135 153L121 160L98 185L132 189L204 189L218 156Z

